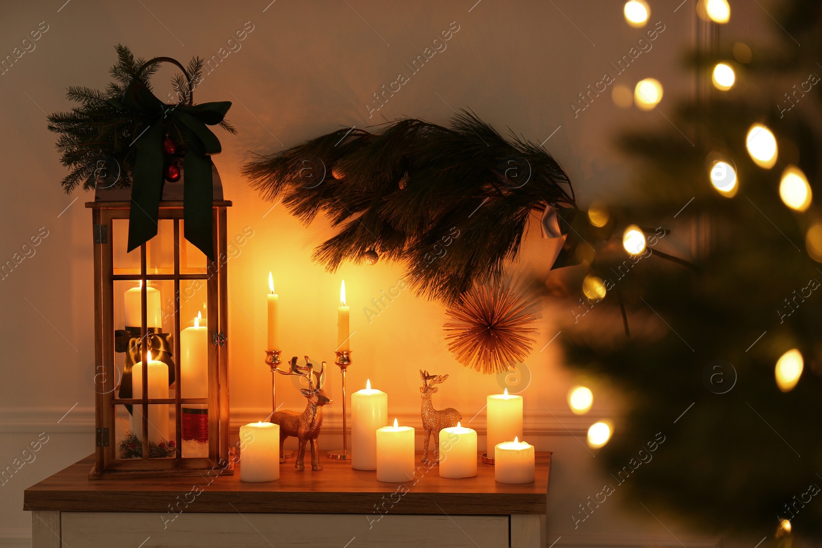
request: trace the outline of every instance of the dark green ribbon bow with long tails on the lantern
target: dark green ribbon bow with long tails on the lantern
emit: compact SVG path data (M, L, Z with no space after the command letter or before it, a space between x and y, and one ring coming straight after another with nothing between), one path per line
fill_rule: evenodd
M128 85L122 99L109 99L118 110L136 110L145 114L149 125L137 136L136 159L132 177L132 207L128 219L128 251L157 235L159 201L163 194L164 127L173 124L188 144L183 157L182 214L185 237L205 256L215 260L211 233L213 198L210 154L218 154L219 139L206 127L223 121L231 108L229 101L216 103L168 105L157 99L139 80Z

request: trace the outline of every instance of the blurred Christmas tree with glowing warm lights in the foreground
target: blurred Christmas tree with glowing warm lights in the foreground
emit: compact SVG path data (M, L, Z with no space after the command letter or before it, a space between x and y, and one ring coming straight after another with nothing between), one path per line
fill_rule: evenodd
M594 225L670 228L635 228L645 241L629 234L591 261L587 302L624 305L633 333L606 338L590 322L562 334L572 366L625 396L597 458L612 487L706 532L767 536L763 547L822 541L822 2L770 13L782 44L695 53L712 89L669 106L672 124L625 136L636 192L589 212ZM701 237L673 250L682 233ZM660 248L693 268L638 258Z

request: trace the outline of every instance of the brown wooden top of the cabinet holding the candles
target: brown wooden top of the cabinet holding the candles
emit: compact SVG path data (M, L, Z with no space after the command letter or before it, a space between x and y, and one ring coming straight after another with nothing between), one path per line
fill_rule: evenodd
M417 454L417 462L422 454ZM413 513L505 515L546 513L551 453L536 454L536 480L509 485L478 458L477 477L440 477L439 467L418 464L416 481L384 483L351 461L324 458L323 470L280 465L279 480L262 483L233 476L90 480L94 455L25 490L25 510L59 512Z

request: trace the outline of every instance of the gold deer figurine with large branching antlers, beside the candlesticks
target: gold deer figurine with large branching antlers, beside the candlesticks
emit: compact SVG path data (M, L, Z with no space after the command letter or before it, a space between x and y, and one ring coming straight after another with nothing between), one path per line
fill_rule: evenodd
M297 357L291 358L291 368L288 371L276 369L282 375L299 375L308 380L308 388L300 389L302 395L308 398L305 411L298 413L295 411L278 411L271 416L271 422L279 424L279 462L284 463L283 443L289 435L299 440L297 449L297 463L294 467L298 470L305 470L303 459L306 454L306 443L311 441L311 467L312 470L322 470L320 464L320 451L317 447L316 438L320 435L322 426L322 406L331 403L331 399L322 389L322 381L326 375L326 362L322 362L320 372L314 371L312 362L306 356L306 365L298 366Z

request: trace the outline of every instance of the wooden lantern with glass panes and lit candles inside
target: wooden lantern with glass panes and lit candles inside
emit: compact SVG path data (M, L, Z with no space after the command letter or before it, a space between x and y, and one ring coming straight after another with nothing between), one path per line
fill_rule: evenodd
M164 188L156 236L130 252L129 189L98 190L96 200L86 204L95 238L92 477L233 468L225 335L225 224L231 202L222 200L216 170L214 180L215 260L183 237L182 181Z

